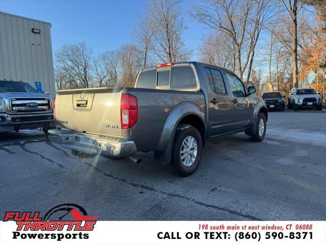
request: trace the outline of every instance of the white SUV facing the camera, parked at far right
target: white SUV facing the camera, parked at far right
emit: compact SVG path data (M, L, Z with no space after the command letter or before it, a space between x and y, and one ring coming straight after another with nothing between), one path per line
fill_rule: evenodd
M304 106L314 106L317 110L321 110L322 98L320 93L312 88L292 88L288 99L288 107L294 111Z

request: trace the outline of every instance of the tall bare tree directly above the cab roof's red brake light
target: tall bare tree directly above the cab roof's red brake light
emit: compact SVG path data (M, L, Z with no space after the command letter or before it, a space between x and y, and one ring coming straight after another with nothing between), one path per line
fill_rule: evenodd
M179 62L189 58L181 34L186 29L180 18L180 0L149 0L147 12L153 32L152 51L162 62Z

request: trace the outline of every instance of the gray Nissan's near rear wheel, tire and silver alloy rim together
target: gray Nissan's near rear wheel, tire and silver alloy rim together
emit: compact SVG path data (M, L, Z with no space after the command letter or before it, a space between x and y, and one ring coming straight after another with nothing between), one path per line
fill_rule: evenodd
M172 171L183 177L193 174L199 166L202 149L199 131L190 125L179 125L172 147Z

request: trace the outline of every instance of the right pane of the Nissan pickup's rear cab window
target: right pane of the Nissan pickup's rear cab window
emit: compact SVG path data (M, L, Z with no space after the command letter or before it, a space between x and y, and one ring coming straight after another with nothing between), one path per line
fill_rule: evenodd
M171 89L196 88L194 71L189 66L171 68Z

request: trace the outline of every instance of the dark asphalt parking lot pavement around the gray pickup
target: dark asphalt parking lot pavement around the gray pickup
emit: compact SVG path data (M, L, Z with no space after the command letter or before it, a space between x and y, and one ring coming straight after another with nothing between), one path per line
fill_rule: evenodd
M99 220L326 220L326 113L268 113L264 141L209 141L195 174L143 162L79 160L41 131L0 133L0 217L62 203Z

